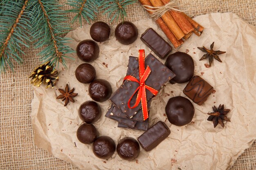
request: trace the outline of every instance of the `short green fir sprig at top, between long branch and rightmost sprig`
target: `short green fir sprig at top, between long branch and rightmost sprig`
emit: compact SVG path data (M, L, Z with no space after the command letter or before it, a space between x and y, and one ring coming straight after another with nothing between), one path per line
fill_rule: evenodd
M90 24L90 19L95 20L95 18L97 18L95 13L99 13L98 3L95 0L68 0L67 4L73 7L72 9L67 10L67 12L76 13L71 23L79 20L81 27L82 18Z

